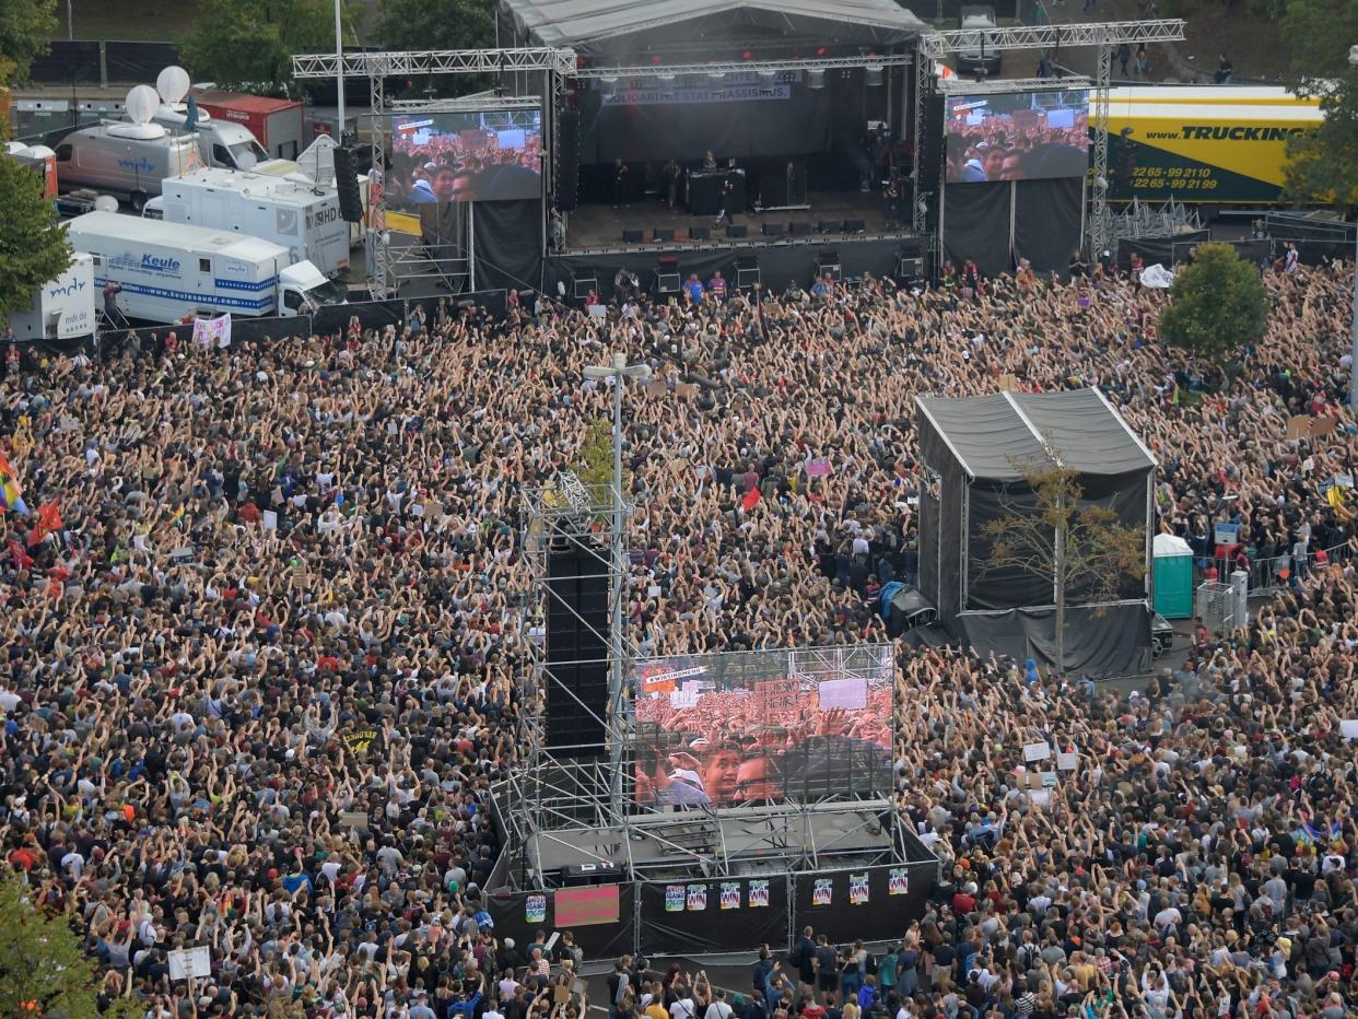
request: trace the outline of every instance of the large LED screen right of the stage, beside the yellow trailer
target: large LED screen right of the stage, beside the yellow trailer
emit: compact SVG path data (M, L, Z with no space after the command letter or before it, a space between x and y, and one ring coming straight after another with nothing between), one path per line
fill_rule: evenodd
M948 183L1084 177L1089 91L949 95Z

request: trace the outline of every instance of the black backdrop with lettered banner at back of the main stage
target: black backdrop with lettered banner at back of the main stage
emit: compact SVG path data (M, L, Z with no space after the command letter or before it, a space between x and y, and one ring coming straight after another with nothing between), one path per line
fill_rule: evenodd
M580 96L580 162L701 160L709 149L722 160L827 151L831 88L808 88L803 82L777 87L785 87L789 98L607 106L603 92L592 88ZM652 88L660 88L656 79L646 83L646 91Z

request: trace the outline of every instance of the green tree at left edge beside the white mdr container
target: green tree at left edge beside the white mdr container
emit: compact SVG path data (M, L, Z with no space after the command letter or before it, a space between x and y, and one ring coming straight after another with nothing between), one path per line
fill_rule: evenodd
M71 242L42 178L0 156L0 319L33 306L34 292L71 265Z

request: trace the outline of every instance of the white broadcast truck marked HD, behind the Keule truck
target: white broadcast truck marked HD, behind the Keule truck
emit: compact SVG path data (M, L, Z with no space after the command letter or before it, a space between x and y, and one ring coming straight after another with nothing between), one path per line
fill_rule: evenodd
M349 224L340 216L333 187L269 174L196 170L166 181L141 215L272 240L293 261L308 261L331 279L349 268Z

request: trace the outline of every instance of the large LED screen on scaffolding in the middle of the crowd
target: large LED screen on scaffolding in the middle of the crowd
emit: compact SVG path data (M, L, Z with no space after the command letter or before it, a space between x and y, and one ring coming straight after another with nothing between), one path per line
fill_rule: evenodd
M633 667L637 803L885 795L889 645L644 659Z

